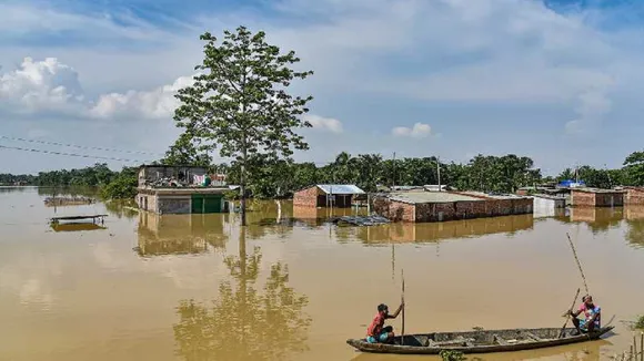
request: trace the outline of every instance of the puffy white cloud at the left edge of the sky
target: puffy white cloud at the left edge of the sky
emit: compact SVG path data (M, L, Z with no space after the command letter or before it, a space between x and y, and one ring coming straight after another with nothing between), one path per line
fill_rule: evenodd
M17 70L0 74L0 107L19 113L69 111L82 101L77 71L56 58L24 58Z

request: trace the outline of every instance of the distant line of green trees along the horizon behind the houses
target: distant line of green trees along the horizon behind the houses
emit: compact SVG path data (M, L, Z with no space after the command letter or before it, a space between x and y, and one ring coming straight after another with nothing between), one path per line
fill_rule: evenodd
M237 184L240 167L234 163L213 164L208 157L165 157L161 164L205 166L211 172L227 174L229 184ZM441 184L457 189L514 193L523 186L559 183L563 179L584 180L590 187L611 188L614 186L644 186L644 152L635 152L616 169L601 169L588 165L576 169L566 168L557 176L543 176L541 169L527 156L509 154L492 156L479 154L465 164L443 163L434 156L384 159L380 154L352 156L340 153L335 161L316 165L284 159L255 157L254 172L246 179L250 193L256 198L285 198L295 190L313 184L355 184L366 192L378 190L378 186L422 186ZM101 187L108 198L130 198L135 195L137 168L124 167L111 171L107 164L94 164L80 169L40 172L38 175L0 174L0 184L12 185L26 182L37 186L90 186Z

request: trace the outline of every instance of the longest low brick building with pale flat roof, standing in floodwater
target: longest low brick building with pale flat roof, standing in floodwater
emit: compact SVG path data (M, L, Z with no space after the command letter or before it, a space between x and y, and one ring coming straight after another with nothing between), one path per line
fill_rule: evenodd
M479 192L409 192L376 196L373 210L394 221L453 219L532 214L533 199Z

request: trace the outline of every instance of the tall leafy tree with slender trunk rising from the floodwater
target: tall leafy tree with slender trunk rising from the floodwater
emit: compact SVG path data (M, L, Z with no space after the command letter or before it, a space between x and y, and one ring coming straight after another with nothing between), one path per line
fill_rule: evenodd
M245 226L246 179L256 169L252 157L262 154L288 158L295 149L308 149L298 127L309 127L300 115L306 113L312 96L293 96L293 80L306 79L312 71L291 66L300 61L295 52L282 53L265 41L265 33L245 27L224 31L223 41L205 32L204 59L195 66L194 84L177 94L177 125L199 138L201 151L219 148L240 166L242 225ZM256 163L256 162L254 162Z

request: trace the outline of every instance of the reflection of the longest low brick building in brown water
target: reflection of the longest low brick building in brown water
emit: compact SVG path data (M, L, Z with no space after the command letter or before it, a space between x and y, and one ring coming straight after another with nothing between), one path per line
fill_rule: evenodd
M477 218L442 223L394 223L373 227L338 227L339 238L361 239L365 244L383 243L434 243L441 239L480 237L491 234L514 236L517 231L532 229L532 215Z

